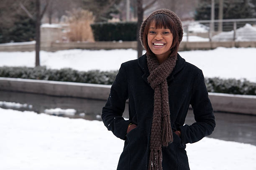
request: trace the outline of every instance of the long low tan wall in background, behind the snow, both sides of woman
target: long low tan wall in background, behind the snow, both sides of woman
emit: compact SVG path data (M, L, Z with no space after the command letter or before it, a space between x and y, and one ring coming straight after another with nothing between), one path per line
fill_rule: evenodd
M217 47L256 47L256 41L252 42L181 42L179 51L184 50L209 50ZM113 49L137 49L136 41L98 41L98 42L51 42L50 44L41 43L41 50L58 51L69 49L87 50L113 50ZM34 51L35 45L6 45L0 46L0 51Z

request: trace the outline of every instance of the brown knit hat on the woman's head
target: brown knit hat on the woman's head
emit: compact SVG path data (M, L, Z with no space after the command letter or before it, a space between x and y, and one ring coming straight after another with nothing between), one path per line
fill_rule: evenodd
M177 30L178 30L178 35L179 35L179 43L182 41L182 37L183 37L183 29L182 29L182 23L181 20L179 19L179 17L172 12L171 10L168 9L160 9L160 10L155 10L153 13L151 13L148 18L146 20L144 20L144 22L141 24L141 29L140 29L140 40L141 40L141 45L144 47L144 43L143 43L143 32L144 29L148 23L148 20L156 15L156 14L165 14L168 15L169 17L172 18L172 20L174 20L174 23L177 24Z

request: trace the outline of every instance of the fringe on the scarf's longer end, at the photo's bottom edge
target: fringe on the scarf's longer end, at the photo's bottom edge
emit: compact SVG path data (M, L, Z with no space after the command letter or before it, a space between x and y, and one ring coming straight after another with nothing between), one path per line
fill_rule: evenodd
M149 156L148 170L163 170L162 168L162 150L151 150Z

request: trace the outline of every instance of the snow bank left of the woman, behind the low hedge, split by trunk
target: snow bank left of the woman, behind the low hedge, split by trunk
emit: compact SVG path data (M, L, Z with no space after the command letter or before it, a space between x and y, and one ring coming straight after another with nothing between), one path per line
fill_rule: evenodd
M128 50L60 50L40 52L41 65L61 69L71 67L76 70L118 70L122 62L136 59L137 51ZM35 52L0 52L0 66L34 67Z

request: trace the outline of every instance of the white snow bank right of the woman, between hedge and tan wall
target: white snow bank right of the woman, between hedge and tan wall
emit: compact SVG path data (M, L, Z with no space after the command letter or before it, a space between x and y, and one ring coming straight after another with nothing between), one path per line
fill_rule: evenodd
M183 51L179 54L199 67L205 77L246 78L256 82L256 48L225 48Z

